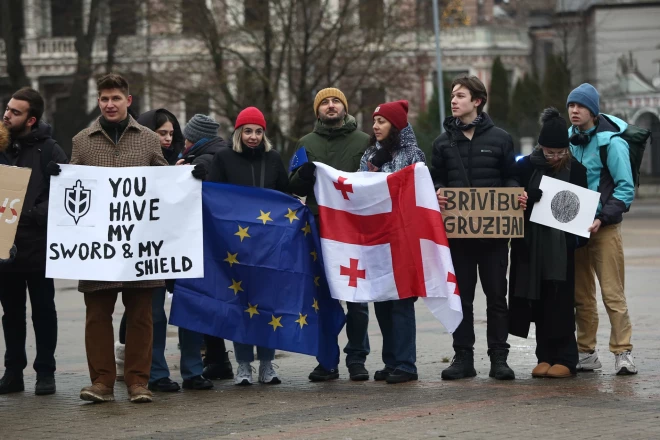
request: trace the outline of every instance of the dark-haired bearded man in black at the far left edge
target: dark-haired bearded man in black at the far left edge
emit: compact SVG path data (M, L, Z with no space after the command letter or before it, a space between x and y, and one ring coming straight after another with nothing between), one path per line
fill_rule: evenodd
M66 154L51 137L50 125L41 121L44 100L36 90L22 88L12 96L3 123L11 141L0 149L0 164L31 168L23 211L16 231L16 257L0 265L0 302L4 316L5 374L0 379L0 394L23 391L23 370L27 366L26 288L30 293L32 323L37 343L34 369L35 394L55 392L55 347L57 313L55 286L46 278L46 222L50 176L47 164L67 163Z

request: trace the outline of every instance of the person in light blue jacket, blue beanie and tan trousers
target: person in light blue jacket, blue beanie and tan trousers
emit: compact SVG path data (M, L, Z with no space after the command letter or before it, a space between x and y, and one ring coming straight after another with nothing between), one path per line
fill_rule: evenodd
M590 190L600 193L596 217L589 228L589 244L575 252L575 322L579 362L577 370L602 368L596 352L598 308L596 283L610 318L610 351L618 375L636 374L632 356L632 324L624 291L621 221L635 196L630 150L621 138L628 124L600 113L600 96L591 84L582 84L566 100L572 126L568 129L571 153L587 168ZM607 163L600 150L607 149Z

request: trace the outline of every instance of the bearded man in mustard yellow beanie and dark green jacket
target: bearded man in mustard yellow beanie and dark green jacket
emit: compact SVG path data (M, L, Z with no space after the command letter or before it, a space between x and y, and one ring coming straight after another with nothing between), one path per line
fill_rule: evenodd
M316 166L313 162L341 171L358 171L360 159L369 146L369 135L357 129L355 118L348 114L346 96L339 89L327 88L318 92L314 99L314 113L317 117L314 131L303 136L296 145L296 150L305 148L309 162L294 170L290 189L294 194L307 197L307 205L318 220L314 197ZM346 366L351 380L368 380L369 372L364 363L369 354L369 307L366 303L349 302L346 305ZM338 368L326 370L319 364L309 375L309 380L321 382L338 377Z

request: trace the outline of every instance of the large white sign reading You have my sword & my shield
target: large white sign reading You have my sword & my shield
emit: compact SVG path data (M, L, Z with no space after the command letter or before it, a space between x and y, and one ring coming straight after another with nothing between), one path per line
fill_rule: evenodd
M50 184L47 277L204 276L202 182L191 167L61 167Z

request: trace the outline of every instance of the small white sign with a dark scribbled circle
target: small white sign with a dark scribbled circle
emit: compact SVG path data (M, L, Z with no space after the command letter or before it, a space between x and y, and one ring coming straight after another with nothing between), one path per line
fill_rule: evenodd
M541 178L539 188L543 196L534 205L529 220L589 238L600 193L548 176Z

